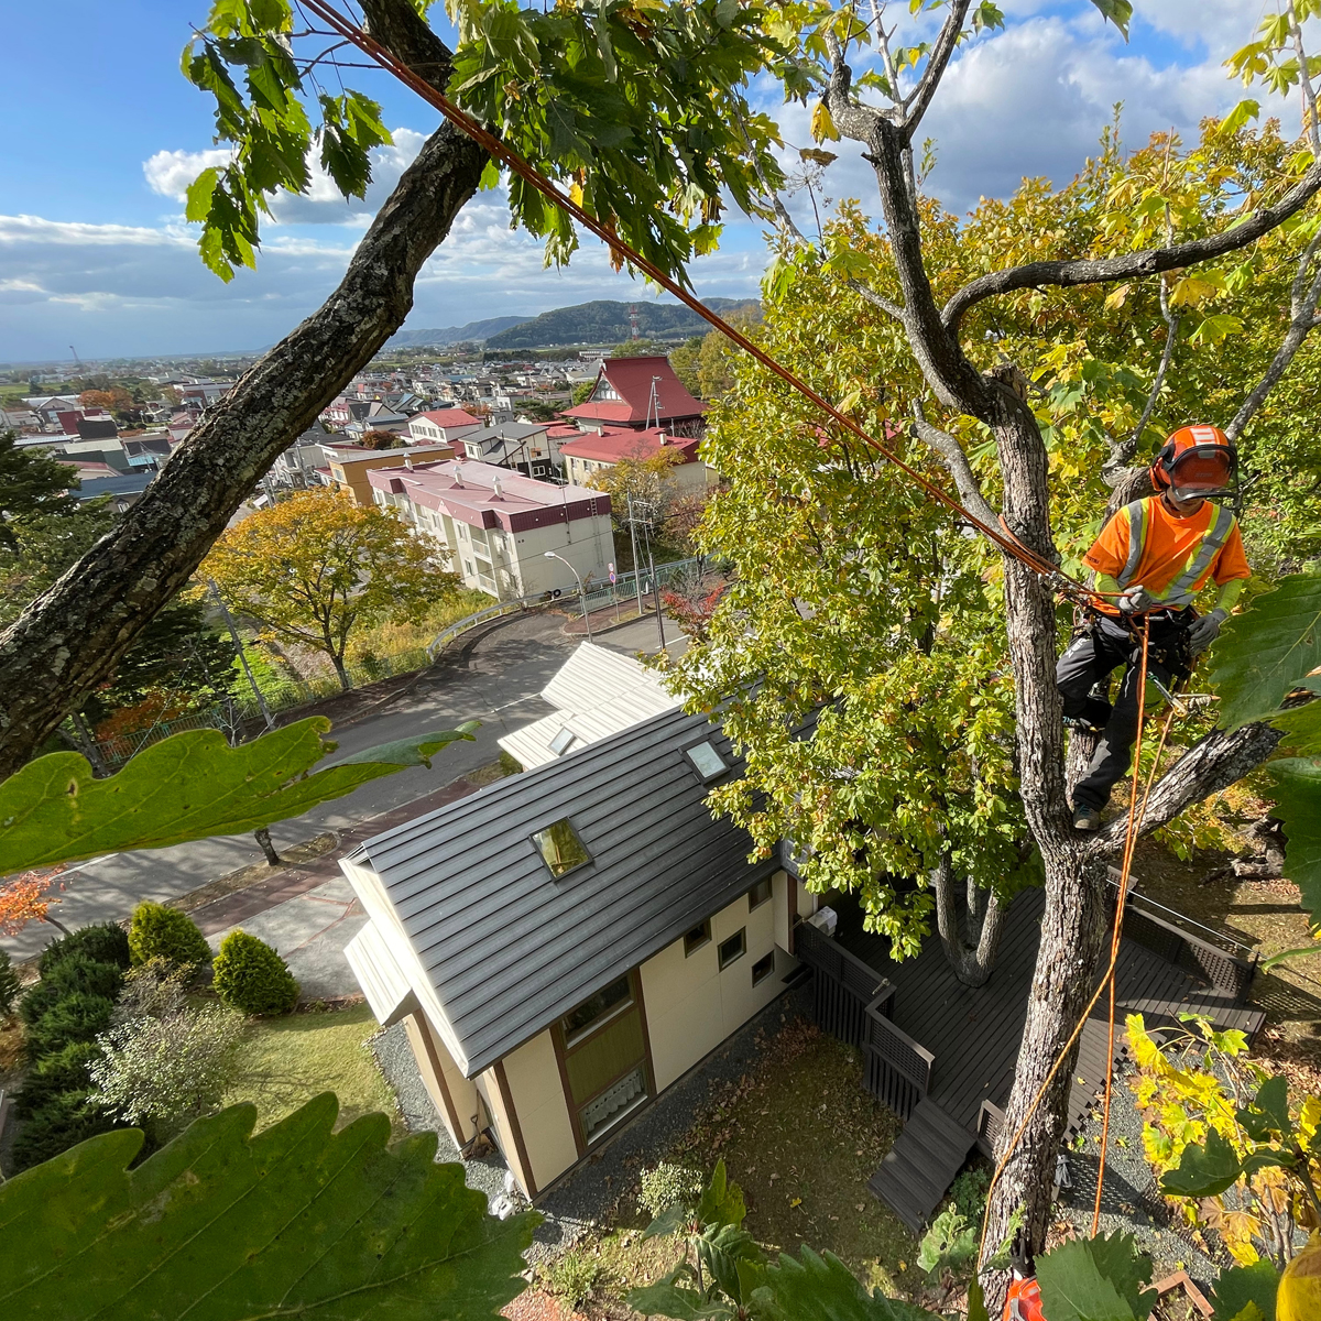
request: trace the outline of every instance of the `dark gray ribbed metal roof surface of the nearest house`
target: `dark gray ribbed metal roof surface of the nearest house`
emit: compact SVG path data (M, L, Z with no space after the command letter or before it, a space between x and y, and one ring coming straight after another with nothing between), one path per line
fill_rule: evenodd
M367 840L466 1057L481 1073L778 864L712 818L683 754L705 716L666 712ZM531 841L568 818L592 863L555 878Z

